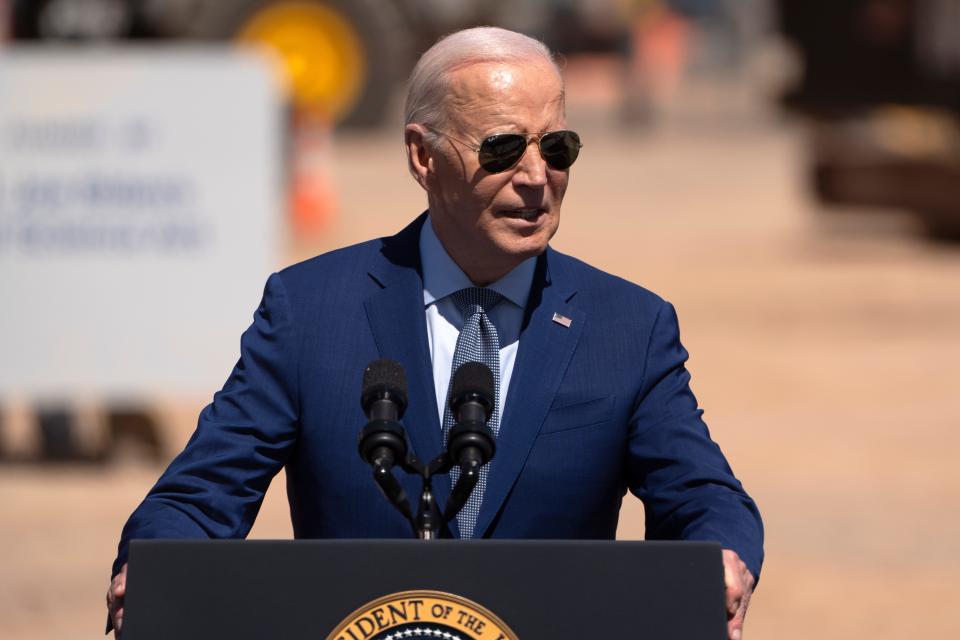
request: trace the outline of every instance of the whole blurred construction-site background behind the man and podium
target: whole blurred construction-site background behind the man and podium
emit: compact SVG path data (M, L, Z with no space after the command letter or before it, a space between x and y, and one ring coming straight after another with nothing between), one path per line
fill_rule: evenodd
M562 54L554 246L678 308L747 637L960 637L958 0L0 0L0 637L100 636L269 273L425 207L404 79L477 24Z

